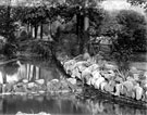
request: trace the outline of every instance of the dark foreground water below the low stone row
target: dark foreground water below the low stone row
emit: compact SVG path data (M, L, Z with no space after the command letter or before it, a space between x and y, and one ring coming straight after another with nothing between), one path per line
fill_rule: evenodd
M79 100L75 97L62 98L51 95L9 95L0 99L0 114L16 114L23 112L37 114L85 114L85 115L146 115L147 110L123 106L106 100Z

